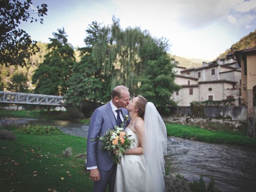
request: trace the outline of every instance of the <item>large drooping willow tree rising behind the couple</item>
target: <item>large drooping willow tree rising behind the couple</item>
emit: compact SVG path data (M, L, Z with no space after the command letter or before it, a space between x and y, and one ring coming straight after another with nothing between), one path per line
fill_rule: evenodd
M119 20L104 26L92 46L92 56L102 72L110 76L111 88L123 84L131 96L143 94L156 106L168 111L171 94L178 90L174 83L173 67L167 51L169 42L150 36L140 28L122 30Z

